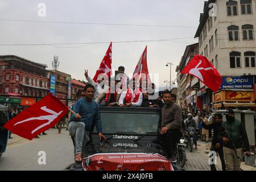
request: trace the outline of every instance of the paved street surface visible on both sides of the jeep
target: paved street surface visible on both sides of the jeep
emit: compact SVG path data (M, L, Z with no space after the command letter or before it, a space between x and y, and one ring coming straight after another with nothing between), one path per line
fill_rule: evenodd
M63 129L57 134L57 129L46 131L38 139L27 140L12 134L6 153L0 158L0 171L32 170L32 171L62 171L73 163L73 143L68 131ZM14 141L15 140L15 141ZM209 171L208 148L210 143L198 142L198 150L186 150L187 162L184 166L189 171ZM46 152L46 165L38 164L39 151ZM217 170L221 170L220 159L217 158Z

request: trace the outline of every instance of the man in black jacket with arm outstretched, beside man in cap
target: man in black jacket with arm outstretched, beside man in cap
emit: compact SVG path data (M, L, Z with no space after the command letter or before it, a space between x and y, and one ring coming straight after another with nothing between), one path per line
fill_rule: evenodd
M208 125L208 123L202 122L202 126L204 129L209 131L213 129L212 146L210 147L210 151L215 151L216 153L218 152L218 155L220 156L220 160L221 160L222 171L226 171L222 140L218 139L218 133L221 129L221 123L222 123L222 114L216 113L213 116L212 123ZM217 171L215 164L210 164L210 170Z

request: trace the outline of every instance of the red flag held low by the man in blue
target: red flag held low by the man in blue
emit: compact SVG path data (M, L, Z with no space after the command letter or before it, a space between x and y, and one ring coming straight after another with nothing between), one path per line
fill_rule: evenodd
M42 100L10 119L3 127L20 137L32 140L55 126L67 112L68 107L48 93Z

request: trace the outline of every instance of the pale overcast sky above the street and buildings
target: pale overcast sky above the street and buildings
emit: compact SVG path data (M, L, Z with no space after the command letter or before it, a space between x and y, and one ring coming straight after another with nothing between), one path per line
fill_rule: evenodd
M0 0L0 19L185 26L110 26L0 20L0 44L101 43L57 47L0 46L0 55L20 56L47 64L48 69L52 69L53 56L58 55L59 71L82 80L84 69L88 69L91 77L94 76L110 42L187 38L113 43L112 68L117 69L119 65L123 65L126 73L133 73L139 57L147 46L148 70L153 74L159 73L159 85L165 85L164 80L170 80L170 68L165 66L166 63L174 64L172 67L172 80L174 80L175 68L185 47L197 42L193 37L199 24L200 13L203 11L203 2L203 0ZM46 17L38 16L39 3L46 5Z

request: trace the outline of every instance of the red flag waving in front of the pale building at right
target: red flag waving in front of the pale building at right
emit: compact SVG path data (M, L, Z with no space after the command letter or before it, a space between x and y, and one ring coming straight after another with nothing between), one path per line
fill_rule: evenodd
M218 73L213 64L204 56L196 55L193 57L181 73L199 78L213 92L216 92L222 84L220 73Z

